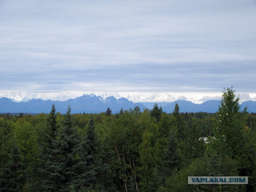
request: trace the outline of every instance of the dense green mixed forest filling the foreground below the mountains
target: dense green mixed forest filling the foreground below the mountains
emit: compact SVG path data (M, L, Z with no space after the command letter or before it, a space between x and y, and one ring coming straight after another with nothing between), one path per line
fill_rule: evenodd
M256 114L224 89L214 114L139 107L112 114L0 115L0 191L256 191ZM204 142L202 137L208 136ZM248 176L189 185L188 176Z

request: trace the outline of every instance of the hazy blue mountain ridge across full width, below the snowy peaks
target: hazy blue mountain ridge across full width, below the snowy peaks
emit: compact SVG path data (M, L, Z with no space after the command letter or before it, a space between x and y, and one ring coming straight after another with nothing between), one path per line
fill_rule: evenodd
M107 97L105 100L103 100L102 97L96 96L94 94L86 94L75 99L69 99L67 101L45 101L41 99L32 99L28 102L17 103L8 98L0 98L0 113L49 113L53 103L56 106L56 110L60 113L65 113L67 106L70 105L72 108L72 113L101 113L106 112L107 108L109 107L113 114L118 113L121 108L123 110L130 110L134 109L136 106L139 106L141 111L143 111L145 108L152 109L155 104L154 102L134 103L126 98L116 99L114 96ZM217 112L218 106L220 105L220 101L218 100L209 100L202 104L194 104L186 100L177 100L175 102L160 102L157 104L158 106L162 106L163 111L172 113L176 103L180 107L180 112L215 113ZM254 101L243 102L240 106L242 110L244 107L247 107L248 112L256 112L256 102Z

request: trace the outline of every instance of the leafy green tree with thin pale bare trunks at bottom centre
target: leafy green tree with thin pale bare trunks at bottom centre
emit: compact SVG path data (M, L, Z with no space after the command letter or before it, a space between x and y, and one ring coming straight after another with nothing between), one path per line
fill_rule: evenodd
M108 135L108 145L112 149L114 158L113 169L118 172L114 176L119 180L122 190L138 190L137 167L138 145L141 138L141 130L135 124L136 118L132 113L125 112L112 124Z

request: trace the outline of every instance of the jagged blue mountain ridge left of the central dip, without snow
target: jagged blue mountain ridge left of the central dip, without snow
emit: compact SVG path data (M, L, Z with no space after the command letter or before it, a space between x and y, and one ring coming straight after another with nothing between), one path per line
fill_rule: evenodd
M28 102L17 103L8 98L0 98L0 113L49 113L53 103L56 111L60 113L65 113L68 105L71 106L72 113L100 113L106 112L108 107L112 110L112 113L118 113L121 108L123 110L134 109L136 106L139 106L141 110L146 108L143 104L133 103L126 98L116 99L114 96L110 96L103 100L100 96L91 94L67 101L32 99Z

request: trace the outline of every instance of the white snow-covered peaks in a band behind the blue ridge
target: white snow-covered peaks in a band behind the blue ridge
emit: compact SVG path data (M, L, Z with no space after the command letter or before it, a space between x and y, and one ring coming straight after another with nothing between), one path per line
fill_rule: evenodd
M174 102L176 100L186 100L195 104L201 104L208 100L220 100L221 94L195 94L195 93L136 93L136 92L96 92L96 93L84 93L84 92L0 92L0 98L6 97L15 102L29 101L32 99L42 100L59 100L66 101L68 99L74 99L82 95L94 94L100 96L103 100L107 97L114 96L116 99L127 98L128 100L136 102ZM256 101L256 94L242 93L240 95L240 102L252 100Z

